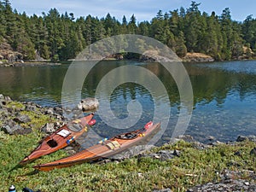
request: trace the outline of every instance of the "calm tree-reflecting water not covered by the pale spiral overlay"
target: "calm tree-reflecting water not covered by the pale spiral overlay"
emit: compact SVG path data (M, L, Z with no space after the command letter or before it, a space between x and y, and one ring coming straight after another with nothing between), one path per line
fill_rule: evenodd
M172 76L158 63L137 61L102 61L84 81L82 96L94 96L97 84L116 67L138 65L147 68L165 84L171 101L171 119L161 142L172 136L179 113L179 94ZM0 68L0 93L20 101L37 102L42 106L61 105L62 82L68 65L47 67ZM256 132L256 61L230 61L185 64L194 91L194 110L186 134L201 142L207 137L219 141L236 140L238 135ZM111 95L111 108L119 118L127 116L127 103L137 100L143 115L137 125L143 125L154 116L154 98L142 85L126 83ZM163 100L164 101L164 100ZM163 103L165 104L165 103ZM96 115L96 131L101 137L113 136L108 125ZM122 132L123 130L120 130Z

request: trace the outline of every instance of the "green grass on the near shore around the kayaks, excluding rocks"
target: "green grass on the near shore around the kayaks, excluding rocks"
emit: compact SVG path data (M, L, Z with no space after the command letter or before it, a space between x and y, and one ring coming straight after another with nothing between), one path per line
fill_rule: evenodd
M20 160L38 146L38 141L43 137L38 128L46 122L54 121L46 115L38 117L37 112L22 113L29 115L35 124L31 134L9 136L0 131L0 191L3 192L7 191L11 184L15 184L18 191L24 187L41 189L44 192L152 191L165 188L186 191L189 186L195 184L218 181L218 174L224 169L241 171L242 178L248 177L248 172L244 170L256 172L256 158L249 154L250 150L256 147L256 143L219 144L199 150L192 143L183 141L152 149L153 152L163 149L181 150L180 157L172 160L132 158L119 163L84 163L51 172L34 172L32 166L60 159L67 156L67 153L65 150L59 150L26 166L16 167ZM240 151L241 156L235 155L236 151Z

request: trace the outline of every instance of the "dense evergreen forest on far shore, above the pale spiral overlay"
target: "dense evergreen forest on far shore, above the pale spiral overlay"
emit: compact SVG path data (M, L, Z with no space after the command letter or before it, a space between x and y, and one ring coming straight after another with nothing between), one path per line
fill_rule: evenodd
M91 15L75 19L73 13L60 14L57 9L28 16L4 0L0 1L0 43L10 44L23 60L33 60L37 51L46 60L67 61L102 38L130 33L155 38L181 57L187 52L211 55L217 61L253 56L256 20L252 15L239 22L231 19L229 8L218 16L201 13L199 6L192 1L188 9L160 10L150 21L137 22L132 15L120 22L110 14L102 19Z

